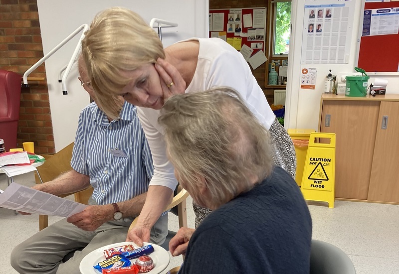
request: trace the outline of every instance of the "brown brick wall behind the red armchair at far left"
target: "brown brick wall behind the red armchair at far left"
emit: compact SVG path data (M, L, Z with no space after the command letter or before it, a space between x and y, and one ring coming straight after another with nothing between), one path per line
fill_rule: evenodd
M0 67L21 76L43 57L36 0L0 0ZM45 77L44 63L29 77ZM33 141L35 153L53 154L47 82L29 81L22 87L17 142Z

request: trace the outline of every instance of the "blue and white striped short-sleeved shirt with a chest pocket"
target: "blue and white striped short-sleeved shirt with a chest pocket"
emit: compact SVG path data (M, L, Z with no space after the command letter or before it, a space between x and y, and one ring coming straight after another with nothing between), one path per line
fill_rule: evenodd
M99 205L127 201L146 192L154 166L136 107L125 102L120 120L112 122L94 102L84 108L71 166L90 176L93 199Z

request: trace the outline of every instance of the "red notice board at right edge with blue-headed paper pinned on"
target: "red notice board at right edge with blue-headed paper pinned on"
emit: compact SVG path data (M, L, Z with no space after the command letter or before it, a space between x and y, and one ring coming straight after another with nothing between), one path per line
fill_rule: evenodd
M397 7L399 7L399 1L365 2L360 22L360 47L357 66L367 72L399 71L399 34L368 35L370 28L367 27L372 10L392 10L392 8ZM399 16L399 10L394 9L393 12L398 12L396 16ZM373 22L371 25L373 27Z

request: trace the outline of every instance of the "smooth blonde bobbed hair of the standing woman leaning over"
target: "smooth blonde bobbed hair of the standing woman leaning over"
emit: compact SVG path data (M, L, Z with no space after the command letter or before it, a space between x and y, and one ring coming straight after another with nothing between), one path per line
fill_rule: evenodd
M115 95L131 79L121 71L165 58L158 34L139 14L123 7L112 7L98 13L82 40L82 56L96 92L97 104L108 117L116 119L119 106Z

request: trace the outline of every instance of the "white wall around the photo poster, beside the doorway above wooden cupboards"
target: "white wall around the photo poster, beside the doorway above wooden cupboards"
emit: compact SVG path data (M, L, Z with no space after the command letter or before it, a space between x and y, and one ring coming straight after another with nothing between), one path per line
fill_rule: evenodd
M305 0L292 1L292 34L290 37L290 54L288 58L288 83L285 110L285 128L287 129L314 129L318 130L320 97L324 92L324 81L329 69L336 74L338 79L341 75L353 74L356 67L356 50L360 25L362 1L355 1L354 27L352 32L351 52L348 64L301 64L303 20ZM370 58L373 58L370 56ZM300 77L302 68L317 68L317 79L315 90L300 89ZM387 93L399 93L399 76L379 76L389 80ZM370 78L369 84L374 81Z

